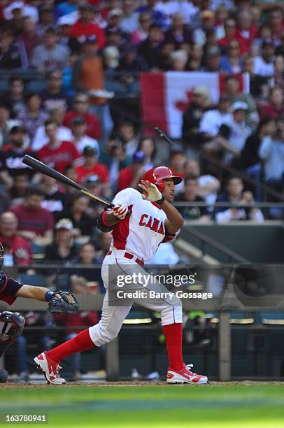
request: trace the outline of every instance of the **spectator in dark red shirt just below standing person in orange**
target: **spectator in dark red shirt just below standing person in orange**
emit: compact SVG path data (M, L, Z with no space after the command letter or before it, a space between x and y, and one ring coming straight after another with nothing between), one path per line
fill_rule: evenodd
M79 92L74 98L73 110L67 111L64 117L64 126L71 128L71 123L74 117L84 117L87 124L86 134L95 140L98 140L101 136L101 125L97 116L88 112L90 107L90 98L87 94Z

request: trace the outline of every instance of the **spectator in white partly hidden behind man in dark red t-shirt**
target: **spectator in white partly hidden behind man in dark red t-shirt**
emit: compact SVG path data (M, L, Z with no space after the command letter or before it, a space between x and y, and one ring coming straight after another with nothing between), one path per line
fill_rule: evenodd
M52 122L55 122L57 125L57 140L58 141L72 141L73 135L71 129L64 127L62 122L64 120L64 116L66 114L66 110L62 108L53 108L50 110L49 119ZM45 120L46 122L46 120ZM44 145L48 144L49 137L45 133L45 122L36 129L36 134L34 134L34 139L31 143L31 147L33 150L40 150Z

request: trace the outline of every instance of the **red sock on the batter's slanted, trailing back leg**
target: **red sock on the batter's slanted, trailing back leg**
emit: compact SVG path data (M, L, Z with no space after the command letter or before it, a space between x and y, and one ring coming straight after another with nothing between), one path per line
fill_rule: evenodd
M94 343L92 342L89 330L87 329L80 331L77 336L46 353L54 362L60 362L62 358L68 357L68 355L75 354L76 352L82 352L83 350L90 348L94 348Z

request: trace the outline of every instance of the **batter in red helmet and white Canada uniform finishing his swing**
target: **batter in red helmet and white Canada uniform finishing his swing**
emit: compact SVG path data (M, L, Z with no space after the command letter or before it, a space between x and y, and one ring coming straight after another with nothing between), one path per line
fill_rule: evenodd
M101 214L99 228L102 231L112 230L113 236L111 248L101 268L106 287L101 320L57 348L42 352L34 358L48 383L66 383L59 376L59 363L63 358L101 346L118 336L122 322L134 303L161 313L169 357L166 381L207 383L206 376L193 373L192 364L185 365L183 362L180 299L173 294L169 295L169 291L143 269L144 262L152 258L159 244L175 238L183 225L183 217L171 204L174 185L180 182L181 178L173 176L166 166L151 169L139 184L142 193L132 188L118 192L113 199L114 208ZM130 283L127 281L119 288L133 296L119 303L117 280L123 276L140 279Z

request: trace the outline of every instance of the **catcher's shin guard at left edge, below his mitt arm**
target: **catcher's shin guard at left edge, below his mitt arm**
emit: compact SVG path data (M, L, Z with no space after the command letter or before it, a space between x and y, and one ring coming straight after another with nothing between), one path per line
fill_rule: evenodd
M0 357L22 334L24 323L24 317L18 312L0 313Z

